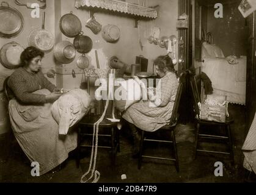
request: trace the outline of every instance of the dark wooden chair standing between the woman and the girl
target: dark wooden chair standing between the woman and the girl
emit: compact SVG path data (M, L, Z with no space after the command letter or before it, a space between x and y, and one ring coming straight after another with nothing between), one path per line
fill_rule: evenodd
M91 77L87 77L87 89L88 93L90 94L90 79ZM92 143L89 143L89 141L92 141L93 137L93 124L100 119L103 110L104 110L104 104L106 104L106 101L97 101L94 99L94 113L89 113L88 115L84 116L84 118L81 119L78 123L78 147L77 147L77 161L76 165L79 168L80 165L80 158L81 158L81 148L92 148ZM109 108L114 109L112 107L113 101L109 101ZM100 109L100 111L98 110ZM110 109L110 111L112 111ZM115 112L115 116L117 116L117 113ZM106 113L104 119L102 122L100 122L99 127L99 133L98 133L98 139L103 141L108 141L110 143L102 143L98 145L98 148L105 148L111 150L111 163L112 166L115 165L115 158L117 155L117 152L120 152L120 141L119 141L119 129L117 129L117 122L111 122L106 118L112 118L112 112ZM89 138L89 140L84 139ZM93 146L95 147L95 146Z

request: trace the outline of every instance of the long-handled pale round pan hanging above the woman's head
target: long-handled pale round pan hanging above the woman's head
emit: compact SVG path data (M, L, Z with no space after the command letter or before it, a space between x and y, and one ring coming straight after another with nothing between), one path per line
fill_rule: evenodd
M42 29L37 28L30 32L28 37L29 46L34 46L43 52L49 52L54 46L54 37L45 30L45 12L43 12Z

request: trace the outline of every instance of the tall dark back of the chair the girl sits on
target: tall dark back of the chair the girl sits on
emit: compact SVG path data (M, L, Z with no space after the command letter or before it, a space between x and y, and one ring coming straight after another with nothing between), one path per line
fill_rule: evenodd
M178 121L179 113L178 108L180 107L181 94L186 83L186 73L180 74L180 82L178 84L178 90L174 102L174 108L172 109L172 116L170 118L170 125L175 124Z

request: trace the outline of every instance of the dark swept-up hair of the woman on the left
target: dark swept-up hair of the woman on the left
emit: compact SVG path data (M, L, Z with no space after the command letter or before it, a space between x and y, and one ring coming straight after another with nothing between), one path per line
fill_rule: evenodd
M20 55L21 66L26 66L27 63L29 63L32 59L34 59L34 57L37 57L38 55L43 58L44 53L33 46L24 49Z

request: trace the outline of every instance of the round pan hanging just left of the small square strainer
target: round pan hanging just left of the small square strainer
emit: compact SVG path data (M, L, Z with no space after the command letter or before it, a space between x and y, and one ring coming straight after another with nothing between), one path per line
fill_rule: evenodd
M76 37L82 30L81 21L76 15L73 15L73 12L67 13L60 18L59 27L67 37Z

